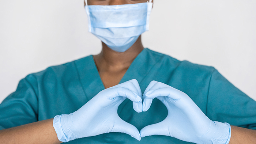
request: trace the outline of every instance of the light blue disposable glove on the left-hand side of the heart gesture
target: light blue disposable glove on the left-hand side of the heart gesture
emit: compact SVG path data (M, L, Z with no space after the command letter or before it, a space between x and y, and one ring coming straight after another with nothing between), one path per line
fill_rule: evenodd
M127 133L140 140L139 130L122 120L118 106L126 99L133 101L133 109L142 112L142 92L137 80L129 80L102 90L79 110L54 117L53 127L62 142L96 136L103 133Z

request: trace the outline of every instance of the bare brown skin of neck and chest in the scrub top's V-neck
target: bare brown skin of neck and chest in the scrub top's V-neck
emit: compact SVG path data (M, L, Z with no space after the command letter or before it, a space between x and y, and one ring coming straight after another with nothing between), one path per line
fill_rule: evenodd
M143 49L144 47L141 42L141 36L131 48L123 53L115 52L102 42L101 53L93 58L104 87L109 88L117 85L121 81L132 61Z

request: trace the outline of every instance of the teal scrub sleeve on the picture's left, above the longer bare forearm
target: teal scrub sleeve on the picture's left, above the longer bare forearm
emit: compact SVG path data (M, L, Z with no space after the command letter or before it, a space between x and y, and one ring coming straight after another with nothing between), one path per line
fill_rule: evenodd
M38 121L37 80L28 75L0 105L0 129Z

